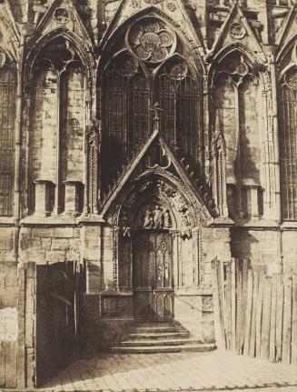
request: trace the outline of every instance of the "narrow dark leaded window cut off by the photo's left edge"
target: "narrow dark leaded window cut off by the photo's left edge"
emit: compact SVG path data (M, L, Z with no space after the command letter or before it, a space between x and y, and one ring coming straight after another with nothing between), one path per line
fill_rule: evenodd
M15 68L0 48L0 216L13 214Z

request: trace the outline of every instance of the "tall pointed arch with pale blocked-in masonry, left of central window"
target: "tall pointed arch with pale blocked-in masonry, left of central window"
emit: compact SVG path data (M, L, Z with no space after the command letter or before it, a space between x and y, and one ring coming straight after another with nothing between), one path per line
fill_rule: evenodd
M50 184L48 211L55 214L64 210L66 181L84 183L85 101L92 59L81 44L73 33L57 29L41 37L25 59L25 87L31 93L29 212L35 210L36 180Z

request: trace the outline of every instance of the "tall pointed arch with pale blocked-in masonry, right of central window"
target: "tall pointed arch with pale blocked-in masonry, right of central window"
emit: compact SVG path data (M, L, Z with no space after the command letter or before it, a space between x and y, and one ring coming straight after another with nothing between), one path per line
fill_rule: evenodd
M210 83L213 86L212 126L218 116L226 142L226 186L229 215L232 218L257 218L262 211L261 195L264 181L263 144L267 142L262 129L267 116L265 95L269 76L260 59L243 45L233 44L213 56ZM267 137L267 138L266 138ZM214 169L215 170L215 169ZM213 173L213 177L219 173ZM256 200L251 206L251 193Z

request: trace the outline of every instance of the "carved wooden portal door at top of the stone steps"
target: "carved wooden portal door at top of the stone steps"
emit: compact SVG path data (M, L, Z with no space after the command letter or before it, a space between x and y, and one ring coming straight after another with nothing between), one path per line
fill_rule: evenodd
M134 234L134 317L164 321L173 318L172 237L165 230Z

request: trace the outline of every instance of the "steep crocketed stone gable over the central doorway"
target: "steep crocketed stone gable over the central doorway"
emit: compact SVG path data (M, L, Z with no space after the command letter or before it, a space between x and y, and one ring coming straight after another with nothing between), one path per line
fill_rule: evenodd
M187 203L192 205L193 222L201 221L205 223L212 220L211 211L215 215L213 200L210 195L206 195L205 188L198 179L193 181L192 175L189 173L188 166L183 167L183 163L177 161L170 148L159 136L158 131L155 130L140 149L139 154L135 156L119 179L111 186L109 194L104 197L101 214L106 216L115 206L122 204L124 206L134 206L134 202L140 200L142 198L140 195L144 192L144 198L149 198L148 205L151 206L152 203L158 205L160 197L163 197L165 204L169 203L170 205L170 200L173 198L173 208L177 208L177 210L179 209L175 206L177 203L175 196L181 194L183 196L176 197L180 197L183 201L188 200ZM162 189L163 193L161 192ZM150 199L151 196L153 197L152 200ZM142 211L151 208L145 204L145 200L142 203L143 205L139 206ZM163 206L163 209L165 211L165 206ZM180 208L179 212L182 214L179 216L180 223L185 222L186 216L183 216L183 208ZM143 215L145 216L145 214ZM137 225L140 225L139 217L135 217L135 219ZM173 220L173 217L170 216L170 219Z

